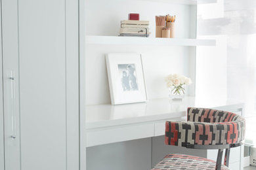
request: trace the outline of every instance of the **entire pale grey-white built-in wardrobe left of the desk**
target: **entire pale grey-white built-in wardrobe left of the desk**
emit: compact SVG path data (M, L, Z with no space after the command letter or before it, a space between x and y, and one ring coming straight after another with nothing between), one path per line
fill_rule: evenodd
M78 0L1 0L0 170L79 169Z

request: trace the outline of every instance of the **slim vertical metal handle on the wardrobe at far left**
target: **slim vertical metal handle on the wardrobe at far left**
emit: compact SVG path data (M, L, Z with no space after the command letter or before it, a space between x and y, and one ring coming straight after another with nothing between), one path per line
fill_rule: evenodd
M11 71L11 126L12 126L12 139L16 139L16 114L15 114L15 75L14 71Z

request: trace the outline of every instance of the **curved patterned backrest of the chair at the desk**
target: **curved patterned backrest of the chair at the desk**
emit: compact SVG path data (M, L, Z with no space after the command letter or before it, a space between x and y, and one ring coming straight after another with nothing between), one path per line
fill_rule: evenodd
M165 124L165 144L219 145L244 140L245 120L232 112L188 108L188 122Z

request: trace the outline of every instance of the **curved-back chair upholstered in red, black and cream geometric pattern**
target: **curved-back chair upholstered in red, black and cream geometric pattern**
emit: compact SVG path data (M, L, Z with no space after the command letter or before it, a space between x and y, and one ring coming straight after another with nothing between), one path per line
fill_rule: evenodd
M165 144L194 149L218 149L217 161L184 154L169 154L152 170L228 169L230 148L244 141L245 120L232 112L188 108L188 122L165 124ZM224 165L221 163L225 150Z

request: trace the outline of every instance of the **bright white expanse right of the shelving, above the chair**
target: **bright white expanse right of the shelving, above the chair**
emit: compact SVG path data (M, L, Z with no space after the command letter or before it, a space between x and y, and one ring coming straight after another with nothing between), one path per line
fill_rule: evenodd
M256 1L198 5L198 38L205 37L217 39L217 47L197 49L196 94L242 101L245 115L255 114Z

